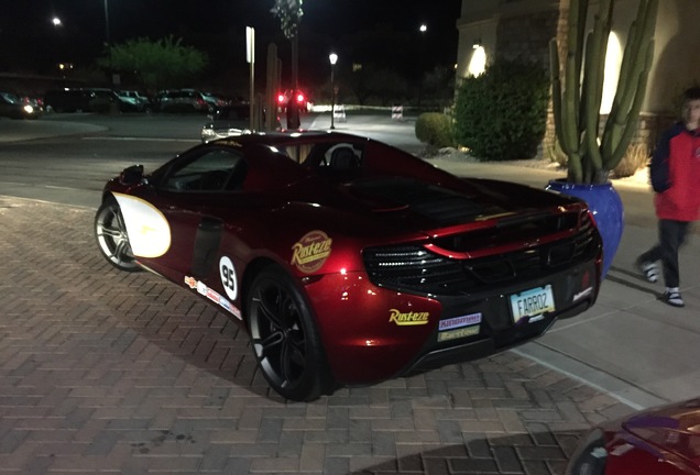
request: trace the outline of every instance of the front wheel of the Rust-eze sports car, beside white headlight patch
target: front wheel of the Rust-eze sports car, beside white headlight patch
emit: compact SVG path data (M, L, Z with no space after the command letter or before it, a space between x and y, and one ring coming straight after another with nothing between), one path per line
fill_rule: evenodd
M97 210L97 214L95 214L95 238L100 253L108 263L120 270L134 272L141 269L131 252L124 218L116 201L108 200Z

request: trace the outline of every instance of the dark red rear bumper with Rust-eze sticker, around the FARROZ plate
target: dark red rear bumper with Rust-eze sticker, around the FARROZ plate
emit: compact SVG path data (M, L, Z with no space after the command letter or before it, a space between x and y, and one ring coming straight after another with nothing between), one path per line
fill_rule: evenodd
M599 275L600 261L594 259L537 279L449 297L375 287L360 274L343 276L342 287L327 275L309 295L317 316L331 316L319 319L318 324L336 379L364 385L485 357L528 342L557 319L591 307L598 297ZM512 296L547 286L554 311L514 317ZM335 295L338 288L343 289L342 296ZM321 307L328 310L319 311Z

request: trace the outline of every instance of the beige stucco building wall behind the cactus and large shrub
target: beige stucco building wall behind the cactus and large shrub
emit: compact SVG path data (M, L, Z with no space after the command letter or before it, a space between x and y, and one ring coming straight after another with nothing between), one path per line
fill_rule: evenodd
M700 85L700 1L663 0L655 31L655 54L635 142L654 145L660 131L677 118L678 97ZM624 48L639 0L616 0L612 32ZM548 44L553 37L566 44L569 0L462 0L459 30L458 77L466 77L477 49L483 46L486 60L497 56L535 60L549 68ZM598 1L591 0L588 26ZM614 82L613 77L610 81ZM554 143L549 114L543 150ZM604 120L604 115L603 115Z

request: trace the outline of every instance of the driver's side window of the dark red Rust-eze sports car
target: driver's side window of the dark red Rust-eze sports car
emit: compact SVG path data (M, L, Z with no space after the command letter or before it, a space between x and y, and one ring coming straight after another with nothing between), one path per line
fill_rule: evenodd
M176 164L161 183L171 191L233 191L241 188L245 172L242 154L214 148Z

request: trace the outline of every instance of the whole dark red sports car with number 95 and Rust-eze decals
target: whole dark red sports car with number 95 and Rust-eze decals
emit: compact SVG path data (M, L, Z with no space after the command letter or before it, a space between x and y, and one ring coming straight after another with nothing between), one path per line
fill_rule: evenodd
M238 320L295 400L526 342L593 305L600 283L584 202L341 133L243 135L132 166L105 187L95 231L116 267Z

